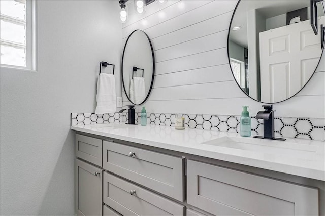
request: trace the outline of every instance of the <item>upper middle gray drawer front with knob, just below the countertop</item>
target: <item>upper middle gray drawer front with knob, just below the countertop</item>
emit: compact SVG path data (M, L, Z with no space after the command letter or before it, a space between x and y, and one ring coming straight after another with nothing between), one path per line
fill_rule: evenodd
M131 154L130 153L134 153ZM184 200L183 158L103 141L103 167L176 200Z

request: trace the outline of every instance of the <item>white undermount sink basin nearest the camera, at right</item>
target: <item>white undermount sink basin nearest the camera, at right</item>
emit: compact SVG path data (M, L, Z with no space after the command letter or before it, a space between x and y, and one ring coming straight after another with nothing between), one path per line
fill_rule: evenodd
M203 142L202 144L270 154L278 154L281 152L281 154L302 154L305 156L306 153L314 154L317 150L317 146L308 144L245 137L220 137Z

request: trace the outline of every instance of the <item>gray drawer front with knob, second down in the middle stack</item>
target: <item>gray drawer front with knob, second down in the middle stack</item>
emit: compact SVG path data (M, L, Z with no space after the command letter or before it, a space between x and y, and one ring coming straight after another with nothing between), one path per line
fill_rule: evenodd
M184 206L104 172L104 203L122 215L183 215ZM131 195L131 191L133 195Z

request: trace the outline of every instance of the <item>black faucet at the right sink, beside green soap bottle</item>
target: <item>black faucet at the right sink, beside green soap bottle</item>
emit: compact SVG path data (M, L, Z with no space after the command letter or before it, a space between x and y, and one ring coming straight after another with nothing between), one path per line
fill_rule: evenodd
M263 119L263 136L254 136L255 138L269 140L286 140L284 138L274 137L274 112L273 105L262 105L264 111L259 111L256 119Z

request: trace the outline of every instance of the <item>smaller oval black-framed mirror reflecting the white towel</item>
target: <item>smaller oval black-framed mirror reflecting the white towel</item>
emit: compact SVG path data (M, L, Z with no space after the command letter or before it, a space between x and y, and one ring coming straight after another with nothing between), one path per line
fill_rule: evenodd
M141 30L132 32L122 58L122 82L128 100L142 104L149 96L154 77L154 55L149 37Z

